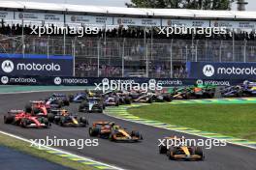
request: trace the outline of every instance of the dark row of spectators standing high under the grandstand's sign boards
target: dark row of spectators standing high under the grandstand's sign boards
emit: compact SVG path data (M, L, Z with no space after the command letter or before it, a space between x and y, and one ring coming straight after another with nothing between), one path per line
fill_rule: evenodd
M20 24L2 24L0 25L0 34L4 35L21 35L22 32L25 35L30 35L30 33L33 32L33 30L37 30L38 27L36 25L24 25L23 31L22 31L22 25ZM45 26L47 27L47 26ZM52 27L48 26L48 27ZM84 26L86 27L86 26ZM70 27L67 26L68 30L70 30ZM60 28L59 28L60 29ZM61 33L61 31L59 31ZM105 35L107 38L131 38L131 39L178 39L178 40L222 40L222 41L232 41L235 39L236 41L255 41L256 40L256 33L254 31L246 32L246 31L237 31L232 32L227 30L227 34L211 34L210 37L207 37L206 35L200 35L200 34L172 34L169 37L167 37L165 34L159 34L160 29L158 27L154 27L152 29L148 28L144 30L144 27L113 27L113 28L105 28L100 29L98 34L84 34L84 37L98 37L98 38L104 38ZM47 34L46 34L47 35ZM57 35L50 35L50 36L62 36L61 34ZM79 34L67 34L69 37L77 37Z

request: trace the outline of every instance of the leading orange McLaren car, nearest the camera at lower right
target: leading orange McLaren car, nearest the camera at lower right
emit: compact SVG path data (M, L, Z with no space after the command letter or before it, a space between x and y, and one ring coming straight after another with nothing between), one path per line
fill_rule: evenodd
M176 137L165 137L166 140L181 140L180 138ZM173 142L175 143L175 142ZM164 145L159 146L159 153L166 154L169 159L184 159L184 160L204 160L205 155L203 153L203 149L201 147L194 147L194 146L170 146L169 148Z

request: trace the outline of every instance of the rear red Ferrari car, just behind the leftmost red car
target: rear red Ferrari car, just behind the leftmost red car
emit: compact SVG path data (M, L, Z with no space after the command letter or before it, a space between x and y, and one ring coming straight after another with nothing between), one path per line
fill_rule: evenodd
M33 101L30 101L25 106L26 113L31 113L33 115L44 116L44 117L48 116L49 109L50 107L47 106L45 101L43 100L33 100Z

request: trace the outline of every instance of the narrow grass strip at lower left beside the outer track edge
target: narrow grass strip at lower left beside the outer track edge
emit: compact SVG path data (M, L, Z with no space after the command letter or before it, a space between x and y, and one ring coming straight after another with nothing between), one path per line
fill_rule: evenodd
M10 137L2 133L0 133L0 146L5 146L31 156L44 158L50 162L57 163L62 166L66 166L74 170L93 170L94 169L92 167L81 164L77 161L73 161L65 157L49 154L45 151L41 151L36 148L30 147L29 143L23 142L21 140L18 140L14 137Z

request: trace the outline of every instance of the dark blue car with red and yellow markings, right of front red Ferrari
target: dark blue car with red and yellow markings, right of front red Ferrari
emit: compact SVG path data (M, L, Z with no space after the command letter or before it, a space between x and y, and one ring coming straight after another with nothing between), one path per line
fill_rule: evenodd
M61 127L86 127L89 125L85 117L72 115L65 109L51 110L48 120Z

